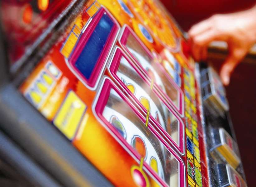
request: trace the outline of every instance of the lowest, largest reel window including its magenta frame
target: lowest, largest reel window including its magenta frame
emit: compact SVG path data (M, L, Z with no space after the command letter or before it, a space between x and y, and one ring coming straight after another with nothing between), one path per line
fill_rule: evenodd
M161 137L150 123L145 127L145 117L107 77L103 78L93 110L102 125L129 150L138 163L141 158L144 159L144 171L159 184L185 186L185 165L182 159L168 145L161 143Z

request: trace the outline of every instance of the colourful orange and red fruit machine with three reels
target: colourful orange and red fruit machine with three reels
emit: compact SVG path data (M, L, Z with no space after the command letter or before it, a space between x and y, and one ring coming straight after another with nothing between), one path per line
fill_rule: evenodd
M247 186L219 76L161 2L3 0L1 33L2 176Z

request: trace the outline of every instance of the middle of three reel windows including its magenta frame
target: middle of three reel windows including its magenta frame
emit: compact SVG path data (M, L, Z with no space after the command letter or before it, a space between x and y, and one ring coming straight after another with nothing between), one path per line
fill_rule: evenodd
M147 80L120 47L115 47L108 71L114 80L124 89L135 104L142 109L144 115L149 110L152 124L182 155L184 148L184 124L178 114L166 104L159 91L150 89Z

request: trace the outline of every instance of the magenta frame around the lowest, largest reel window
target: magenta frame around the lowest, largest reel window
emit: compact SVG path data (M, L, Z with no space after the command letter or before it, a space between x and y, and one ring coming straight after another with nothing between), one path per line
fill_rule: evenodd
M106 118L104 118L104 116L102 115L104 107L107 104L107 100L109 98L110 95L110 90L111 88L114 89L119 96L131 107L131 109L135 112L135 114L140 118L140 120L142 120L143 123L146 122L145 118L143 118L143 116L140 114L140 112L130 103L130 101L124 96L123 93L121 93L121 91L109 80L109 79L105 79L105 81L102 83L102 90L101 93L98 97L96 106L95 106L95 112L97 114L97 116L102 120L102 122L104 122L104 124L107 125L107 127L111 130L112 133L114 133L114 135L118 138L118 140L120 140L122 142L123 145L125 145L125 147L138 159L140 160L141 156L140 154L138 154L129 144L128 142L115 130L115 128L107 121ZM161 136L159 136L157 134L157 132L154 130L153 127L151 127L151 124L149 123L149 130L152 131L152 133L154 135L156 135L159 139L160 142L163 141L163 139L161 138ZM162 140L162 141L161 141ZM162 142L163 143L163 142ZM166 143L164 143L164 145L166 146L166 148L170 151L171 154L173 154L173 156L178 160L179 162L179 177L180 177L180 187L184 187L185 184L184 182L181 183L181 181L185 181L184 178L184 163L182 161L182 159L172 150L172 148L167 145ZM168 187L168 185L165 183L165 181L163 181L154 171L153 169L147 164L147 163L143 163L143 166L150 172L151 175L154 176L154 178L156 178L156 180L163 186Z

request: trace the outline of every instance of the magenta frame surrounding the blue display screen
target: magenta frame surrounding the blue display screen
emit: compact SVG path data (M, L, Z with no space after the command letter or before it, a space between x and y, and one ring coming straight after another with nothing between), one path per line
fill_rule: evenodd
M92 70L91 76L89 79L85 78L83 76L83 74L81 74L81 72L75 67L75 62L78 59L81 51L83 50L84 46L86 45L86 43L88 42L90 36L92 35L95 27L97 26L97 23L100 21L101 17L103 16L103 14L107 14L111 20L113 21L114 25L113 28L111 30L111 33L106 41L107 45L104 46L101 55L98 58L98 61L95 64L94 69ZM84 33L82 33L81 38L79 39L79 42L77 44L77 46L75 47L75 50L73 51L73 53L71 54L70 58L69 58L69 65L70 67L78 74L78 76L89 86L89 87L94 87L96 82L97 82L97 78L99 76L99 74L102 71L102 68L104 67L104 63L107 59L107 56L111 50L111 46L112 43L115 41L115 37L116 34L118 32L118 25L116 24L116 21L113 20L113 18L111 17L111 15L102 7L98 13L94 16L94 18L92 19L91 23L88 25L87 29L85 30Z

